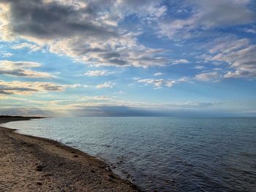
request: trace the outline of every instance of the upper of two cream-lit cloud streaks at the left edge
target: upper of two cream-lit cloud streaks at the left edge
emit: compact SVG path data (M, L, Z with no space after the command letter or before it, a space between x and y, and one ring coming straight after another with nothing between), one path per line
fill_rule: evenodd
M55 77L47 72L37 72L31 70L31 68L37 68L39 66L41 66L41 64L31 61L0 61L0 74L28 78Z

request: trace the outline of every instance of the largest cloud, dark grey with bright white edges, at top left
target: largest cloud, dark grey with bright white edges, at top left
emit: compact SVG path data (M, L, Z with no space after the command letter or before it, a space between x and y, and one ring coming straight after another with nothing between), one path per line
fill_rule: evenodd
M165 51L138 42L140 31L117 24L127 15L159 18L160 1L0 1L1 38L26 39L14 48L47 48L94 66L165 66ZM68 3L69 2L69 3ZM161 12L159 12L161 9ZM33 43L30 43L33 42Z

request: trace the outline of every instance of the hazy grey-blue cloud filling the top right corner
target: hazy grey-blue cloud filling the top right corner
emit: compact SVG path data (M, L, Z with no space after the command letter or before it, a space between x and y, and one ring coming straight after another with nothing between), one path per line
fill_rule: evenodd
M189 16L184 19L171 18L159 22L159 34L170 39L183 39L211 28L252 23L255 20L255 12L249 9L249 2L247 0L185 1L184 7L189 12Z

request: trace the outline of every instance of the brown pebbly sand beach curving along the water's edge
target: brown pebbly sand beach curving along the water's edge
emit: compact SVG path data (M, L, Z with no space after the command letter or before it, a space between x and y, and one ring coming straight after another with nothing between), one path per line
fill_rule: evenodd
M0 146L0 191L140 191L105 162L59 142L0 126Z

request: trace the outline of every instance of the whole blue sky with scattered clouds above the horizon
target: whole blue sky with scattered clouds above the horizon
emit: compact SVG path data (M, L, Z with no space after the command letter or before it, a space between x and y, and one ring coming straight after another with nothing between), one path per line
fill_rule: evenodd
M0 113L256 116L255 0L0 0Z

